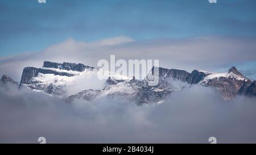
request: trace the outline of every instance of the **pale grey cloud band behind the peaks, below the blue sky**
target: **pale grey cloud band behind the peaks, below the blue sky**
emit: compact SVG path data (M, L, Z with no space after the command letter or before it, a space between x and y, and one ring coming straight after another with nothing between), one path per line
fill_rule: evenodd
M125 60L158 59L159 65L165 68L214 71L229 68L234 64L255 61L255 51L254 37L194 37L135 41L130 37L119 36L93 42L67 39L41 52L1 57L0 73L9 74L19 81L24 67L40 67L44 60L80 62L96 66L98 60L110 60L110 55Z

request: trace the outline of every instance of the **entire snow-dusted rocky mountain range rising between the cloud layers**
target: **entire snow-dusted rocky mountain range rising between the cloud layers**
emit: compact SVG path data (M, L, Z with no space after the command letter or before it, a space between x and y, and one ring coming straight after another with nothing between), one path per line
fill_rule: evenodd
M152 70L154 67L152 68ZM84 90L66 98L68 102L75 99L94 100L98 98L123 98L137 104L161 103L172 91L185 89L186 86L202 85L212 87L221 93L225 100L237 95L256 97L256 82L243 76L233 66L226 73L212 73L193 70L191 73L179 69L158 68L159 83L148 85L148 77L139 80L135 78L117 79L109 77L102 90ZM100 69L84 64L44 61L42 68L26 67L23 69L20 83L3 75L0 84L13 83L19 87L30 87L32 90L42 90L52 95L62 95L65 87L71 85L81 74L100 72Z

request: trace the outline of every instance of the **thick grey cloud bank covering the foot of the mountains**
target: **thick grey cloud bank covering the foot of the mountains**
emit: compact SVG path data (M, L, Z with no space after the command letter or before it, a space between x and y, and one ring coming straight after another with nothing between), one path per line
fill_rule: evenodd
M192 86L162 104L121 99L63 99L42 91L0 87L0 143L255 143L255 98L226 102Z

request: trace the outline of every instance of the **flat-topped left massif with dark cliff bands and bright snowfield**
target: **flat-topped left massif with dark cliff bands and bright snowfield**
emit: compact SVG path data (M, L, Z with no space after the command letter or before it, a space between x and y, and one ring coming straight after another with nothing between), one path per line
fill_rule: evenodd
M42 68L27 67L23 69L20 86L43 90L49 94L61 95L65 86L82 72L92 71L95 68L83 64L44 61Z

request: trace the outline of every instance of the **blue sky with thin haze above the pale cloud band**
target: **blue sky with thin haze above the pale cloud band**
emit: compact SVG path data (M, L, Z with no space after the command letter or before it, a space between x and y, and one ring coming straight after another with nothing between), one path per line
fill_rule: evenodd
M0 0L0 56L41 51L69 37L256 36L255 6L254 0Z

